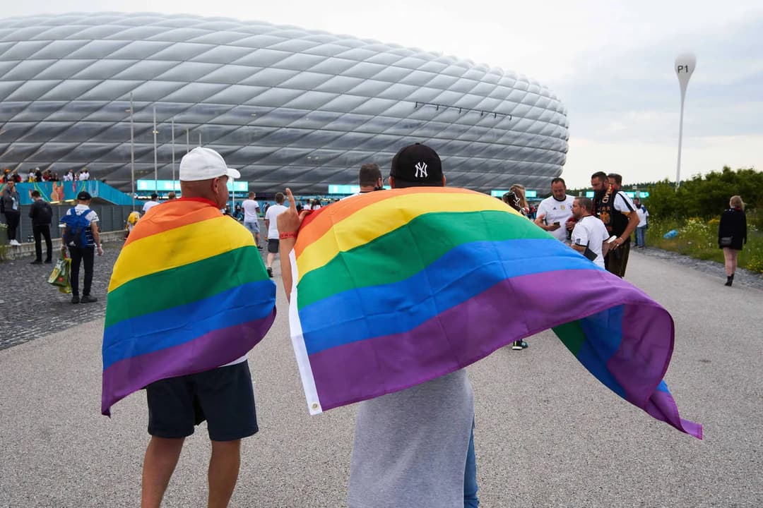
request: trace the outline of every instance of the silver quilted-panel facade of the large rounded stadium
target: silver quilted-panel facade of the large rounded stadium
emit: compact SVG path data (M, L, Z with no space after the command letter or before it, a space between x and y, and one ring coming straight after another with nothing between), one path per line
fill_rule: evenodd
M452 56L188 15L0 23L0 167L87 167L129 190L130 118L137 178L153 180L156 153L169 179L173 138L175 168L201 139L265 191L326 193L367 161L386 174L408 142L436 149L451 185L546 190L568 147L547 88Z

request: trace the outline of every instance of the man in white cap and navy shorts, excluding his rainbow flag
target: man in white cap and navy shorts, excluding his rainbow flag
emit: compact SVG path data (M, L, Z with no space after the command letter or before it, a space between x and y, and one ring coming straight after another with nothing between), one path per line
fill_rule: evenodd
M198 147L180 161L182 199L168 201L134 228L140 233L146 219L183 214L188 200L224 208L227 181L240 173L228 168L220 154ZM192 220L189 214L189 220ZM243 226L241 226L243 230ZM248 234L247 234L248 235ZM198 238L199 242L207 241ZM257 256L260 264L262 260ZM256 267L237 267L241 270ZM259 267L262 270L262 267ZM182 280L173 281L182 287ZM236 487L240 467L240 444L257 432L254 392L246 355L205 372L160 379L146 386L151 440L143 461L141 506L158 508L175 470L185 437L195 425L207 420L212 443L209 465L208 506L227 506ZM190 503L190 500L188 500Z

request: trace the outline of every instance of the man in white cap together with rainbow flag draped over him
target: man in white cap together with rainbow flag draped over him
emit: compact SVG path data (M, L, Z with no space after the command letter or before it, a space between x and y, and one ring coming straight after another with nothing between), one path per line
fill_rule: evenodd
M188 152L180 161L182 198L143 216L114 264L101 413L146 388L151 438L143 460L143 508L161 505L185 438L204 421L211 440L204 506L228 506L241 439L259 430L247 356L275 319L275 284L252 235L220 211L227 181L238 177L214 150ZM148 265L146 252L152 255ZM156 350L157 342L164 349ZM114 350L129 355L116 359Z

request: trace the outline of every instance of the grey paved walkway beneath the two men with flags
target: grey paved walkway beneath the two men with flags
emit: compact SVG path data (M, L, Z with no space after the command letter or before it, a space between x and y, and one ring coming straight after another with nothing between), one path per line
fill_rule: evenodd
M641 252L629 263L674 317L666 380L705 440L610 394L539 334L469 369L482 506L763 506L763 291ZM231 506L345 506L355 407L308 416L278 296L250 353L260 432ZM145 395L99 415L101 332L102 318L0 351L0 506L138 505ZM200 428L164 506L204 506L208 453Z

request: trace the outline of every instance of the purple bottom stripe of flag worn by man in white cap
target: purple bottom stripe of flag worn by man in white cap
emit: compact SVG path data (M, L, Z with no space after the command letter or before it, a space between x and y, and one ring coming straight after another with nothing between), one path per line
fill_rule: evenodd
M182 343L112 363L103 372L101 414L133 391L159 379L214 369L251 350L270 329L275 308L266 318L220 328Z

